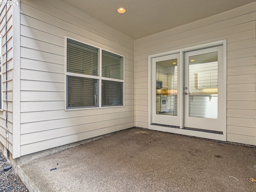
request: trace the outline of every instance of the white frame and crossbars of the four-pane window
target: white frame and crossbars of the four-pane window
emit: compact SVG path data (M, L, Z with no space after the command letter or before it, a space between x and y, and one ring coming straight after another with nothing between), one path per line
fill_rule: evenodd
M92 46L94 48L97 48L99 50L99 60L98 60L98 76L94 75L86 75L86 74L78 74L73 72L67 72L67 39L74 40L77 42L80 42L82 44ZM102 76L102 50L110 52L112 54L116 54L118 56L121 56L123 58L122 65L123 65L123 76L122 79L115 79L115 78L107 78ZM82 106L82 107L68 107L68 76L76 76L76 77L82 77L82 78L91 78L98 80L98 106ZM114 105L114 106L102 106L102 80L106 81L113 81L113 82L121 82L122 83L122 104L121 105ZM124 56L121 54L117 54L115 52L100 48L98 46L88 44L86 42L70 38L68 36L65 36L65 110L84 110L84 109L96 109L96 108L113 108L113 107L124 107Z

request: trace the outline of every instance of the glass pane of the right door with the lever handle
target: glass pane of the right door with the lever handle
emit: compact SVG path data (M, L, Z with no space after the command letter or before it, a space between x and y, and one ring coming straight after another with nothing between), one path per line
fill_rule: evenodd
M218 52L189 57L189 116L218 118Z

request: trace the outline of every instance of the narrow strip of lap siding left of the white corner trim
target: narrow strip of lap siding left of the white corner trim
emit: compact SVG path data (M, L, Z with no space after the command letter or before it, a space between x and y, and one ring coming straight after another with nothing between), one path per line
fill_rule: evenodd
M0 15L0 35L2 37L2 110L0 111L0 142L13 153L13 10L12 6L0 6L3 10ZM6 14L6 17L5 17ZM7 36L6 36L6 18L7 18ZM6 81L6 37L7 37L7 81ZM6 83L7 83L7 103L8 103L8 142L6 142ZM7 144L7 146L6 146Z

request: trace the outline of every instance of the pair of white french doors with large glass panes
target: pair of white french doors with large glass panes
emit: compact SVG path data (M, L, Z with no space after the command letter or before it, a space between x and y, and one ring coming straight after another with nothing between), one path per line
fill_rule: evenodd
M151 59L150 124L222 133L223 45L180 53Z

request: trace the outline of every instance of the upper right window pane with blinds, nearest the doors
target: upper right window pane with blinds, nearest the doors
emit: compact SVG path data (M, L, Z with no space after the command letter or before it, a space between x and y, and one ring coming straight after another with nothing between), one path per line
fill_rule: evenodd
M122 56L102 50L102 77L124 78L124 58Z

